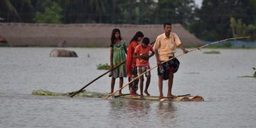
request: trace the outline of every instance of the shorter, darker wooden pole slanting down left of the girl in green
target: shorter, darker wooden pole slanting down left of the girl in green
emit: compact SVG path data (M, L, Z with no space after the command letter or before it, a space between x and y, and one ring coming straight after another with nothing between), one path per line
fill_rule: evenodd
M152 43L150 43L150 44L152 45L152 44L155 43L155 42L156 42L156 41L154 41L154 42L152 42ZM102 76L106 75L107 73L110 73L110 71L114 70L115 68L119 67L120 65L122 65L122 64L124 64L124 63L126 63L126 60L124 60L122 63L119 63L118 65L114 66L114 68L112 68L112 69L110 69L110 70L107 70L106 73L103 73L102 75L100 75L99 77L95 78L95 79L92 80L91 82L87 83L87 85L85 85L84 87L82 87L80 90L75 91L75 92L70 92L70 93L69 93L70 97L74 97L74 96L77 95L78 93L83 92L84 89L85 89L85 87L87 87L87 86L89 86L90 84L92 84L92 82L95 82L96 80L100 79Z

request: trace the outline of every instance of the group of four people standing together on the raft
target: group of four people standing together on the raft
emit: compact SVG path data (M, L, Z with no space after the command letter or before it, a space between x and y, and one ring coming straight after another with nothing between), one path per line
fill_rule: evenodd
M140 43L141 41L142 43ZM115 79L119 78L119 88L121 88L124 82L123 78L127 78L128 75L129 82L132 80L129 84L130 95L139 95L137 94L139 84L140 98L144 98L144 76L142 75L142 73L144 73L146 77L144 93L149 96L148 88L151 74L150 71L146 72L146 70L150 69L149 58L156 55L156 63L158 65L157 72L159 75L159 99L164 98L163 80L169 80L167 98L175 97L175 95L171 93L171 88L174 73L177 72L180 63L174 58L174 53L176 53L176 46L181 48L183 53L188 53L188 50L181 44L177 34L171 32L171 23L164 23L164 33L157 36L153 47L149 42L149 38L144 37L141 31L137 31L129 42L127 50L125 41L122 40L121 32L118 28L113 29L110 43L110 69L125 60L127 60L127 63L126 65L119 65L110 72L110 77L112 78L111 93L114 92ZM137 78L139 75L142 76L134 80L134 78ZM119 90L119 95L122 95L122 90Z

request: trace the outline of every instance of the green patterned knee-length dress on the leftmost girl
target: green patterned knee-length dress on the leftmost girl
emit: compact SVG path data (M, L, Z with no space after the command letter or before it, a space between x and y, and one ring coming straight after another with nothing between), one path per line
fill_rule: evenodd
M126 60L125 51L124 51L125 41L121 41L118 45L113 46L113 68L114 66L122 63ZM115 68L110 72L110 77L113 78L126 78L126 63L119 65L118 68Z

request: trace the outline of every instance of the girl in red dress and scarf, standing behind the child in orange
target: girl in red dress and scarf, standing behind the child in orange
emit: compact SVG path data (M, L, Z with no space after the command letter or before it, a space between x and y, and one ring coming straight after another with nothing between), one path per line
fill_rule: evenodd
M139 45L139 42L142 41L144 34L141 31L137 31L134 37L129 43L128 51L127 51L127 74L128 80L131 81L133 78L136 78L137 75L137 66L136 66L136 58L134 58L135 48ZM130 95L138 95L138 83L139 80L134 80L131 84L129 84Z

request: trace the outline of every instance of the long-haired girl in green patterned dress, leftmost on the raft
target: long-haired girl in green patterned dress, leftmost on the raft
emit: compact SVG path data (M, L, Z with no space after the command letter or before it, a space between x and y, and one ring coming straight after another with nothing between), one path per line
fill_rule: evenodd
M126 60L126 53L127 48L125 46L125 41L122 40L120 30L118 28L114 28L112 31L110 43L110 69ZM118 68L112 70L109 76L112 77L110 93L113 93L115 79L119 78L119 88L121 88L124 82L124 78L127 77L125 64L120 65ZM119 95L122 95L122 90L119 90Z

